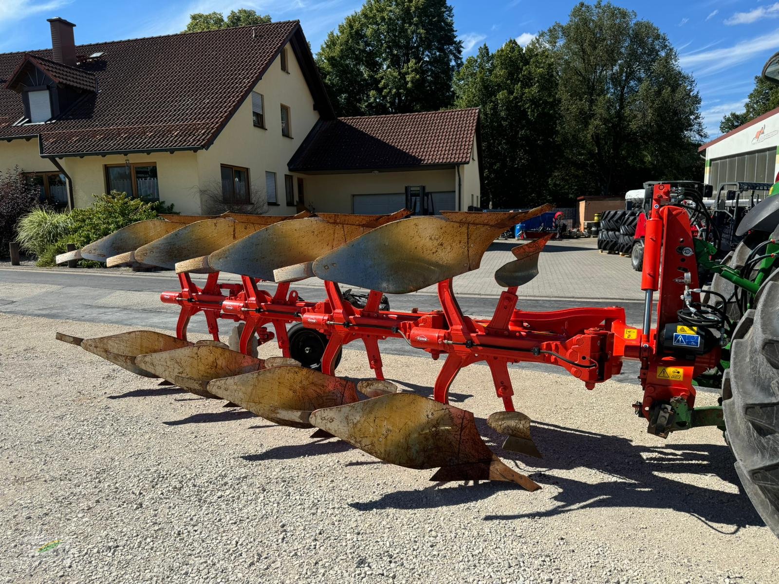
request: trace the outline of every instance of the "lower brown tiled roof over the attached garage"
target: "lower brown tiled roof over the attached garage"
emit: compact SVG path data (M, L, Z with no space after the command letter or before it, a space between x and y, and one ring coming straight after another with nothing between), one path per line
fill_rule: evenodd
M467 164L478 107L320 120L289 162L291 171L368 171Z

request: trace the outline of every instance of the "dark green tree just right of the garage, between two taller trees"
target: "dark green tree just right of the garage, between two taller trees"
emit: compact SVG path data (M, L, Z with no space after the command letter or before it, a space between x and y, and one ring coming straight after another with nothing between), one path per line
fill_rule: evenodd
M482 206L533 206L553 200L549 181L558 160L559 110L552 51L509 40L487 45L455 76L456 107L481 107Z

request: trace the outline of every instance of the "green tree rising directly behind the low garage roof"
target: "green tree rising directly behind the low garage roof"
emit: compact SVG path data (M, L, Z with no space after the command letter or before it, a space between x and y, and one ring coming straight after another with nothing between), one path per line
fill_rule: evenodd
M317 63L339 115L397 114L450 106L461 51L446 0L367 0Z

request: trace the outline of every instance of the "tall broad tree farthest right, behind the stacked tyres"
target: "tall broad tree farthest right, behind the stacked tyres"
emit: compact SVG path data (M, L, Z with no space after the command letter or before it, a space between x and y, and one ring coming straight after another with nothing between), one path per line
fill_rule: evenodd
M657 26L610 2L580 2L541 42L559 69L559 189L618 195L650 178L702 174L700 96Z

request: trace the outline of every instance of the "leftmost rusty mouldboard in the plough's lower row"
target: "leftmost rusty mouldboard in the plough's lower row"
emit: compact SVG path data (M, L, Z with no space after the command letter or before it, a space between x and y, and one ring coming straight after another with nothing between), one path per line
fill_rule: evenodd
M98 357L103 357L127 371L152 378L161 377L161 375L156 375L139 366L136 363L138 355L192 347L192 343L188 341L150 330L120 332L118 335L98 336L94 339L79 339L79 337L58 332L56 338L65 343L79 345L84 350Z

